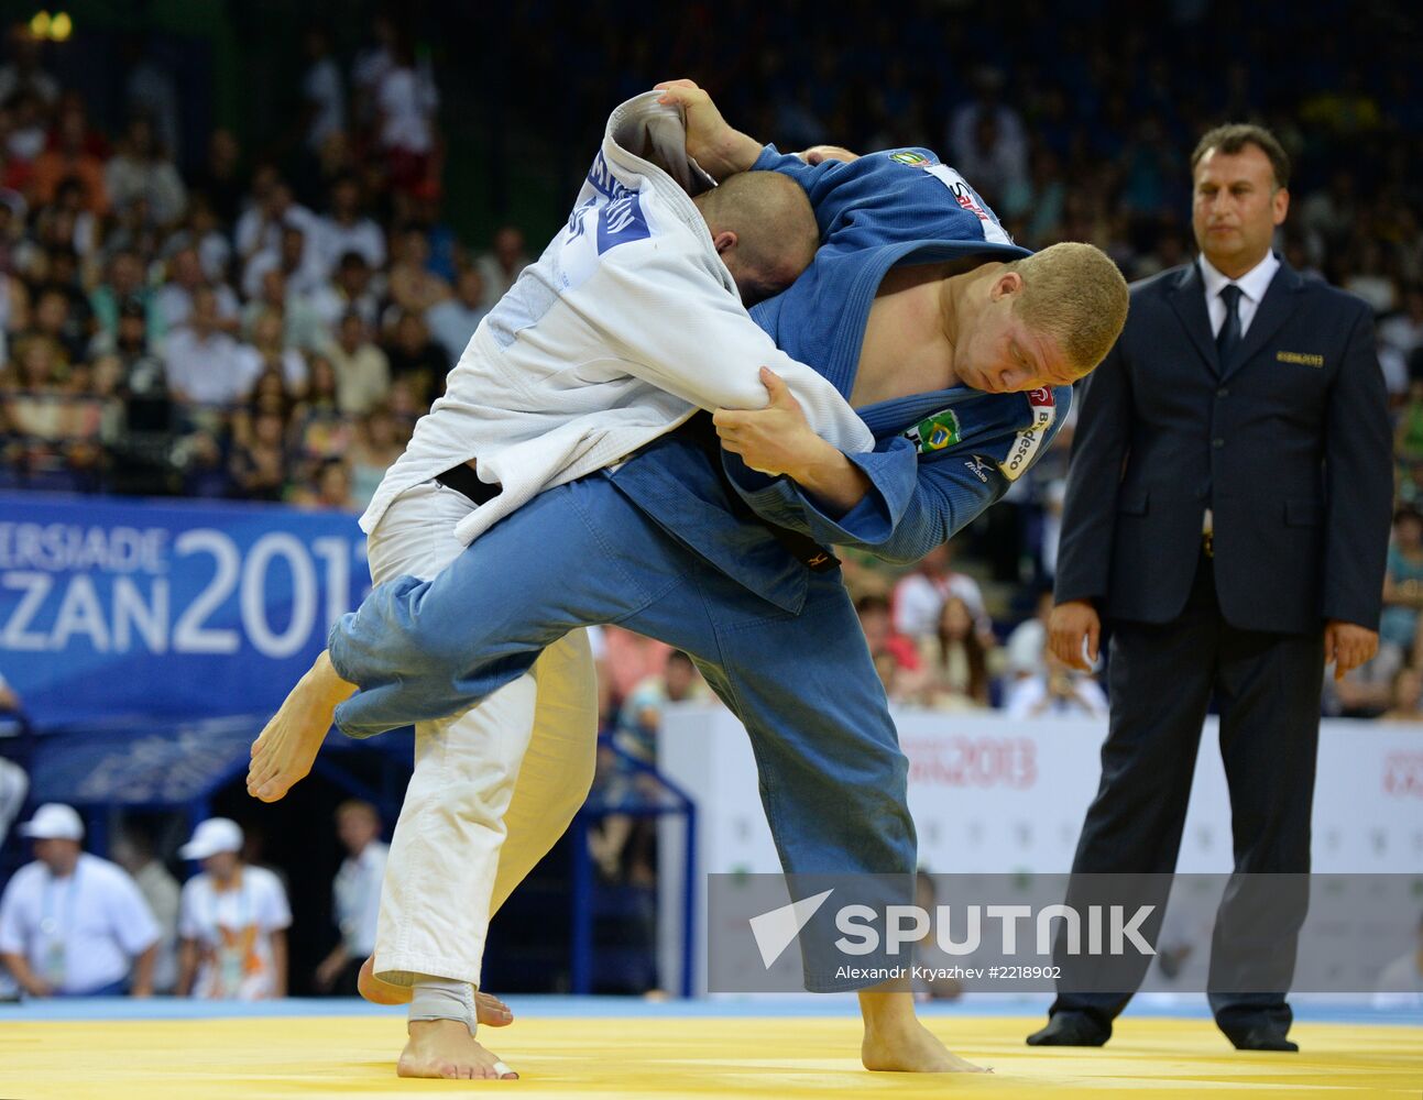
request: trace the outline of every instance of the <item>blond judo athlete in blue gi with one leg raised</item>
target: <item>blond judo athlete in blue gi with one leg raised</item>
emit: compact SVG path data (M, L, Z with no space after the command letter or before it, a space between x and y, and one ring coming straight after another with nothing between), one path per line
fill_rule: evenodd
M283 706L306 729L277 714L249 790L280 797L305 774L323 707L357 737L447 716L571 629L616 622L687 650L744 723L788 874L908 875L905 760L821 545L915 561L998 499L1116 340L1126 283L1090 246L1015 246L926 149L811 165L727 127L694 87L666 95L714 178L768 169L810 196L821 249L753 317L848 398L874 450L825 444L768 377L766 408L719 411L714 434L693 418L541 492L433 581L380 585L333 629L329 657ZM458 874L458 852L450 861ZM803 953L808 989L865 985L837 976L844 959ZM969 1069L914 1020L908 992L861 989L861 1006L867 1067Z

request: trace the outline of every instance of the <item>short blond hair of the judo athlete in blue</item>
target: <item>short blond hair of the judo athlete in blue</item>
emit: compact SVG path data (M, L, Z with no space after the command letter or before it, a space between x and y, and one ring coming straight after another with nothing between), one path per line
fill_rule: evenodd
M1023 276L1017 316L1057 343L1074 379L1089 374L1127 323L1127 280L1117 265L1096 245L1067 240L1007 266Z

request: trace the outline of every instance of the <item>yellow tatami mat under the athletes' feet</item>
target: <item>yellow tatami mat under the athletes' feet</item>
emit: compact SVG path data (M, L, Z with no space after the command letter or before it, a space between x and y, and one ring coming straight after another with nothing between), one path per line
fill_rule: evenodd
M1414 1097L1423 1030L1296 1025L1299 1054L1231 1050L1208 1020L1126 1019L1100 1050L1033 1050L1037 1019L931 1017L993 1076L865 1073L852 1019L521 1019L481 1039L519 1082L404 1082L391 1017L6 1022L6 1100L249 1100L377 1097L470 1089L525 1097Z

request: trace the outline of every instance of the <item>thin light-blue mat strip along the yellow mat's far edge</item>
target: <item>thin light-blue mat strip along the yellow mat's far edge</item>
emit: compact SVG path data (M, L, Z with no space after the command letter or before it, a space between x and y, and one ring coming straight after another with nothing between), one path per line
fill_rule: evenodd
M850 996L781 995L719 1000L643 1000L640 998L509 996L515 1016L544 1019L565 1017L736 1017L736 1016L845 1016L854 1015ZM993 996L969 998L958 1003L924 1003L925 1016L1042 1016L1050 998ZM1295 1019L1301 1023L1373 1023L1399 1027L1423 1027L1423 1009L1375 1009L1359 1002L1295 999ZM245 1016L380 1016L400 1009L367 1005L346 998L289 998L286 1000L186 1000L178 998L60 998L0 1003L0 1026L9 1022L37 1020L212 1020ZM1161 1002L1140 998L1130 1016L1208 1019L1205 998Z

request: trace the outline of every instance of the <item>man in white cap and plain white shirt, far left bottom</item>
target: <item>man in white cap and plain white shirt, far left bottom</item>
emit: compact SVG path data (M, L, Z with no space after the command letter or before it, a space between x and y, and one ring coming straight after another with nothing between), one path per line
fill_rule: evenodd
M0 961L30 996L112 996L132 973L134 996L152 992L158 925L134 879L83 851L84 823L46 803L20 825L34 841L0 898Z

